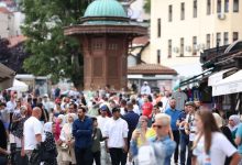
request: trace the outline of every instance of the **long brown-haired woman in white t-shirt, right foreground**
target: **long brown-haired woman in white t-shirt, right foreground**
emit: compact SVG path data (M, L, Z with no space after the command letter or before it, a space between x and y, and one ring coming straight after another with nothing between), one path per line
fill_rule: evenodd
M226 157L231 158L231 165L238 165L240 155L230 141L220 133L210 111L197 111L195 116L197 138L194 143L193 162L198 165L223 165Z

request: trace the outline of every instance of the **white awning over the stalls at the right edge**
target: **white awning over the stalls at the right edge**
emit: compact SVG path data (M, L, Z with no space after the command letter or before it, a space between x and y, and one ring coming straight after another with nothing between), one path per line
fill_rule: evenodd
M220 80L212 86L212 96L242 92L242 70Z

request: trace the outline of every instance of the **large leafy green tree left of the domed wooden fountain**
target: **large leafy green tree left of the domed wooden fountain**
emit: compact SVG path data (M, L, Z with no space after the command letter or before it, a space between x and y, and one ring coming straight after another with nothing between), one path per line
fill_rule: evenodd
M69 78L82 86L82 55L79 43L64 35L64 26L79 23L90 0L23 0L25 50L31 54L24 69L34 75L51 75L54 82Z

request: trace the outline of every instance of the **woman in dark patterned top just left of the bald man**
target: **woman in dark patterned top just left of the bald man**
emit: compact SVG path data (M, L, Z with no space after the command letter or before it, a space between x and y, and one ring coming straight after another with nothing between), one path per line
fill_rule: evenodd
M25 106L20 107L20 112L14 112L12 117L12 134L15 143L15 163L16 165L24 165L26 157L23 156L22 142L23 142L23 124L26 121L28 108Z

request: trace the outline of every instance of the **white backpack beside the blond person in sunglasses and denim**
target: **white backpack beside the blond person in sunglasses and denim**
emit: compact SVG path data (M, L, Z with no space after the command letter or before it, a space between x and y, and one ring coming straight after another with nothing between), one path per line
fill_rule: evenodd
M139 165L156 165L156 157L154 147L151 145L144 145L139 148L138 153Z

